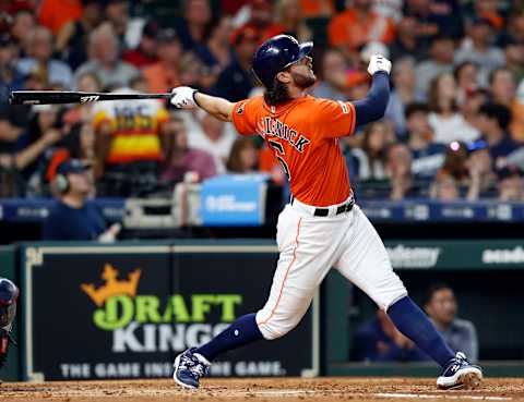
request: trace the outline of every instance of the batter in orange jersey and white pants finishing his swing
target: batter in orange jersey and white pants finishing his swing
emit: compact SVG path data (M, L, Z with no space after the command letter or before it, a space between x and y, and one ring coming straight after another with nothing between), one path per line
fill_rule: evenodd
M258 313L238 318L209 343L178 355L174 379L182 387L198 388L218 354L289 332L334 267L442 366L437 379L440 388L475 388L481 381L481 369L469 364L463 353L451 351L407 295L381 239L355 204L341 153L340 137L383 117L390 97L391 62L382 56L371 57L368 72L372 85L365 99L319 99L307 95L315 82L308 56L312 47L312 42L299 44L287 35L262 44L253 57L253 71L265 86L260 97L231 103L190 87L172 89L171 102L176 107L200 107L231 121L241 135L262 136L282 163L293 194L278 217L279 258L267 302Z

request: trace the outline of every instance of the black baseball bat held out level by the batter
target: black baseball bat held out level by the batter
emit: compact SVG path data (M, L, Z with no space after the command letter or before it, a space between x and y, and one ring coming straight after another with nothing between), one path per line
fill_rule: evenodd
M11 105L57 105L85 103L99 100L123 99L170 99L172 94L107 94L64 90L13 90L9 96Z

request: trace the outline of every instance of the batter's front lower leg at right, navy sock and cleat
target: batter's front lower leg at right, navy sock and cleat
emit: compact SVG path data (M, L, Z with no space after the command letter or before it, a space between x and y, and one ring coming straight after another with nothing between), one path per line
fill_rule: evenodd
M396 328L413 340L427 355L442 366L437 379L441 389L477 388L483 380L480 367L471 364L465 354L454 354L424 312L405 296L388 308Z

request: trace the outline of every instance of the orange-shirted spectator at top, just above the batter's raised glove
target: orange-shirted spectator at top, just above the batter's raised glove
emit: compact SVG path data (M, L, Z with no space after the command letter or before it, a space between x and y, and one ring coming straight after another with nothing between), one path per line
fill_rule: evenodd
M372 11L371 5L371 0L354 0L353 7L335 15L327 28L330 45L349 56L369 41L392 42L393 21Z

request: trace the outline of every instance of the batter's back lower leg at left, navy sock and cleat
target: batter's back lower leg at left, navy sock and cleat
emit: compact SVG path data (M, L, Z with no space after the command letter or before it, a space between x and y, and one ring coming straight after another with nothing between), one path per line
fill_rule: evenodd
M186 388L199 388L200 378L207 374L218 354L263 339L255 321L255 314L238 318L209 343L191 348L175 358L172 379Z

